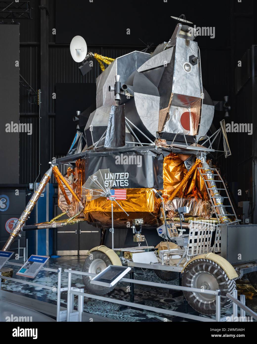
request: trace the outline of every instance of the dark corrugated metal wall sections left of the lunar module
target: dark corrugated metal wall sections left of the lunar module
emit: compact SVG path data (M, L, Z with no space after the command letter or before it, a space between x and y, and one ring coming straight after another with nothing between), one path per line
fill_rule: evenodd
M127 54L135 49L103 49L90 48L104 56L116 58ZM21 69L20 74L35 89L40 88L40 45L21 45L20 49ZM55 93L56 83L95 83L101 69L96 60L93 59L93 68L85 76L81 75L78 64L71 57L69 46L49 45L49 139L51 157L60 158L55 155L54 133L55 133ZM43 92L43 90L42 90ZM20 87L20 121L32 123L33 133L31 136L21 133L20 135L20 183L33 182L39 171L39 106L32 105L28 92ZM75 132L75 126L74 126ZM65 166L62 167L65 172Z

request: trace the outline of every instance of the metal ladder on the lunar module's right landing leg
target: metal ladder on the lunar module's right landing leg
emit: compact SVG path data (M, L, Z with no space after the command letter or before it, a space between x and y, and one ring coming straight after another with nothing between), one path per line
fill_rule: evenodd
M204 177L204 176L207 175L207 173L203 173L203 172L201 171L201 170L204 171L204 168L203 168L203 167L198 167L198 168L197 168L197 170L199 171L199 173L200 173L200 175L201 175L201 177L202 177L202 179L203 179L203 181L204 181L204 184L205 184L205 187L206 187L208 196L209 196L209 198L210 198L210 201L211 201L211 204L212 204L214 213L215 213L215 216L216 216L216 218L217 218L217 220L218 220L218 224L219 224L219 225L222 224L221 221L220 221L220 217L221 217L221 216L224 216L223 214L217 214L217 209L218 209L219 207L224 207L224 208L226 209L226 212L227 212L227 215L226 215L226 216L233 216L233 217L235 217L235 221L233 221L233 223L239 222L240 220L239 220L239 219L237 218L237 216L236 216L234 207L233 207L232 202L231 202L231 199L230 199L230 197L229 197L229 195L228 195L228 192L227 192L227 188L226 188L226 186L225 186L225 183L224 183L223 179L221 178L221 175L219 174L218 170L215 169L215 168L210 168L210 167L209 167L208 169L210 169L210 170L212 171L214 180L208 180L208 179L206 179L206 178ZM216 178L215 178L215 177L216 177ZM216 190L218 190L220 197L223 198L223 199L227 199L227 200L229 201L229 205L225 205L225 204L224 204L224 205L215 205L215 204L214 204L213 199L214 199L214 198L217 198L217 197L219 197L219 196L212 196L212 195L211 195L210 190L212 190L212 188L208 187L207 182L215 182L215 183L216 183L216 185L217 185ZM225 192L224 192L224 191L225 191ZM225 194L225 196L223 196L222 193ZM229 211L227 211L227 208L229 208Z

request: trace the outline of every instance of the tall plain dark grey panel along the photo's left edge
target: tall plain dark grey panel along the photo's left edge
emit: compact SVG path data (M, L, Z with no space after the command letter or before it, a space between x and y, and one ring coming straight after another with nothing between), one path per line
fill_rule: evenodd
M19 132L6 132L19 124L19 25L0 25L0 171L1 184L19 183ZM18 65L17 65L18 64ZM9 130L9 129L8 129Z

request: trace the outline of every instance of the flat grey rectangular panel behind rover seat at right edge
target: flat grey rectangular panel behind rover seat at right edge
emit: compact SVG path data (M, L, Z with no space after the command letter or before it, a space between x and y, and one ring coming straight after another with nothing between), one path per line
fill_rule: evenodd
M221 227L221 256L231 264L257 261L257 225Z

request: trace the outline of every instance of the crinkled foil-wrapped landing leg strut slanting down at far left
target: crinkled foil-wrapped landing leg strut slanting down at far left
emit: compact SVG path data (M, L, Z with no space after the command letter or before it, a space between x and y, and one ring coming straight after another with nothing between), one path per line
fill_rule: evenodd
M21 228L24 226L25 222L27 221L30 213L32 212L36 202L38 201L40 195L42 194L46 184L48 183L49 179L51 178L52 168L49 169L43 176L42 180L38 184L35 192L33 193L32 197L30 198L29 203L26 205L24 212L21 214L19 221L15 224L11 235L9 236L6 244L2 248L3 251L8 251L9 247L13 243L14 239L20 234Z

